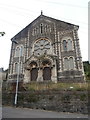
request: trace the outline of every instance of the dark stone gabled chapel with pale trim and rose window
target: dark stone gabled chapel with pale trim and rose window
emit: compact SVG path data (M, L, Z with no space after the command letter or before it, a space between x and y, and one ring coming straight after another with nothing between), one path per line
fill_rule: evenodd
M11 39L8 81L83 82L78 29L41 12Z

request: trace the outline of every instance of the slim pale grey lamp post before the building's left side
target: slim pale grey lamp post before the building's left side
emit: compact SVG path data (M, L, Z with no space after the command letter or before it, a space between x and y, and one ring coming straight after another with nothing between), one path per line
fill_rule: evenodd
M18 44L17 41L12 41L15 44ZM18 62L18 70L17 70L17 81L16 81L16 92L15 92L15 100L14 100L14 104L15 106L17 105L17 97L18 97L18 83L19 83L19 74L20 74L20 56L21 56L21 48L19 49L19 62Z

